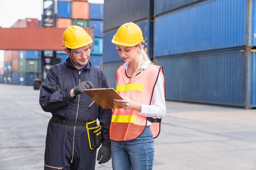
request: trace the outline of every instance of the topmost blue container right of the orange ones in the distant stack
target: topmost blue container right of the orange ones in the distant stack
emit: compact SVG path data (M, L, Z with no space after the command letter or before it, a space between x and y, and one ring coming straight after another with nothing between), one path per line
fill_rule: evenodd
M90 20L103 20L103 4L89 4Z

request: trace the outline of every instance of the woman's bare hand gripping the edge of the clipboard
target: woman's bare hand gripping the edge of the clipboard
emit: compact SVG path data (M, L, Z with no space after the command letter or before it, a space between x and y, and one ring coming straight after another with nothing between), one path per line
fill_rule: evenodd
M121 106L123 109L128 110L128 109L133 109L136 111L141 111L141 104L134 102L132 100L130 100L127 97L122 97L122 99L114 99L114 103Z

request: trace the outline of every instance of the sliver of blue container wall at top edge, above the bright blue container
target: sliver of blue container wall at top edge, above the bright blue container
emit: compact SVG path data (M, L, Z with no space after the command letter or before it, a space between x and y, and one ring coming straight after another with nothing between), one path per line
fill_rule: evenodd
M159 15L172 11L181 7L191 6L195 2L202 2L205 0L155 0L154 14Z

